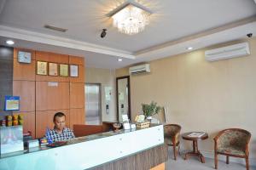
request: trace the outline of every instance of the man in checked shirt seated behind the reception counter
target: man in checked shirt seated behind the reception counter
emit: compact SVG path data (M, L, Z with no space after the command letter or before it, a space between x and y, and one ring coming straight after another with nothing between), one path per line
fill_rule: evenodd
M52 142L56 142L75 138L73 131L66 127L66 116L64 113L55 113L53 122L55 123L54 129L48 130L45 135L48 140L51 139Z

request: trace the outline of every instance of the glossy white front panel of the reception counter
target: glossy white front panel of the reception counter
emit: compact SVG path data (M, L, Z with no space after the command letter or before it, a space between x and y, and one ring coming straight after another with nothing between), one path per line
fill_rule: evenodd
M73 144L1 157L0 170L87 169L164 143L162 125L131 132L108 132L96 135L101 138L94 139L94 135L81 137L74 139ZM84 138L91 139L84 141Z

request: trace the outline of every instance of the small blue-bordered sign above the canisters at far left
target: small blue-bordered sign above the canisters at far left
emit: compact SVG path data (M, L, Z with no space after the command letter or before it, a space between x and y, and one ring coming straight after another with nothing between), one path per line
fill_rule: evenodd
M20 111L20 96L5 96L4 111Z

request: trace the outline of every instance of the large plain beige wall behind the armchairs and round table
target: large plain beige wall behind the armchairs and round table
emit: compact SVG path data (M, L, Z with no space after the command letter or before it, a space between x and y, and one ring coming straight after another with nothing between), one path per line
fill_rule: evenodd
M199 143L206 152L213 150L218 131L244 128L253 136L250 158L256 158L256 38L249 42L247 57L208 62L203 49L152 61L150 74L131 76L132 117L142 103L154 100L167 107L169 122L180 124L182 133L209 133L210 139ZM116 74L127 75L127 68Z

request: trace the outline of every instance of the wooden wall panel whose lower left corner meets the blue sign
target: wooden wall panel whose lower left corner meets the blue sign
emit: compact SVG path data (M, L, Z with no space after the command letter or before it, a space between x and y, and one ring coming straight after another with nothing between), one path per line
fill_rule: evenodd
M20 111L35 111L35 82L14 81L13 95L20 96Z

